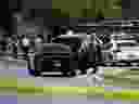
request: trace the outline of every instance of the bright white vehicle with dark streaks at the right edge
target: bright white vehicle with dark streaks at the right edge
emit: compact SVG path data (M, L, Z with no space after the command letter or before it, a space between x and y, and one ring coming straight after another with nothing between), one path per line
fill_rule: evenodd
M139 61L139 43L135 37L127 34L112 35L111 37L112 47L109 52L112 55L111 61L138 63Z

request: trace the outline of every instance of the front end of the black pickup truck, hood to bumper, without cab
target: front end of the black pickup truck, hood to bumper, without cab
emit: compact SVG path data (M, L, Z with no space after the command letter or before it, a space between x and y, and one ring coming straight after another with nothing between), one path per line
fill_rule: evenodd
M78 68L75 53L62 43L43 43L29 58L29 74L34 76L68 76Z

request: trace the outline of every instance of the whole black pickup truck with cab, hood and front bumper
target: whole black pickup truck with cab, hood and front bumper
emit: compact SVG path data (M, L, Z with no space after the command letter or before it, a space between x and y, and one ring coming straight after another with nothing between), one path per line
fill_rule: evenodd
M42 43L36 50L33 60L29 60L29 74L34 76L76 76L86 74L87 69L93 66L93 61L97 52L78 52L83 36L58 37L52 43ZM92 55L91 55L92 54ZM31 56L29 56L31 57ZM90 58L91 57L91 58Z

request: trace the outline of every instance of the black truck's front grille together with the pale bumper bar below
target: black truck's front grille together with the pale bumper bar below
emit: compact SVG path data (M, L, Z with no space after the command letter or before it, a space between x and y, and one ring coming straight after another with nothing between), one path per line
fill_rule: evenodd
M45 75L61 75L70 72L70 54L38 54L35 56L35 70Z

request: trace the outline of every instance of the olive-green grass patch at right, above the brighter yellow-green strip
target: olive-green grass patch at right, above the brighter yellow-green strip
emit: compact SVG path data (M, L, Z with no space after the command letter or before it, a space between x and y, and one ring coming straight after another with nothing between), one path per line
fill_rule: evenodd
M125 69L116 74L116 69L111 69L111 72L105 72L104 75L105 84L116 87L139 87L139 70Z

